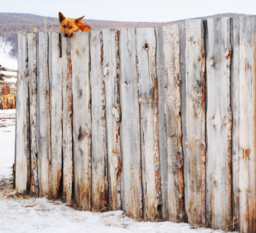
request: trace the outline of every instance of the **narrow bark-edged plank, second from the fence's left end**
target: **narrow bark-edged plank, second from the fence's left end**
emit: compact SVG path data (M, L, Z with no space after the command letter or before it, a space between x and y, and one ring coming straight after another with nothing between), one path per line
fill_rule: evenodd
M29 74L29 136L30 136L30 187L29 194L38 196L38 164L36 133L36 34L28 33L28 74Z

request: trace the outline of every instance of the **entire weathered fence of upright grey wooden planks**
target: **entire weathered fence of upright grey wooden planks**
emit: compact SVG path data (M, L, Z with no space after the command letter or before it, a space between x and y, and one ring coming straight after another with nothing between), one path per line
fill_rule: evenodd
M19 33L18 54L19 193L256 232L256 17Z

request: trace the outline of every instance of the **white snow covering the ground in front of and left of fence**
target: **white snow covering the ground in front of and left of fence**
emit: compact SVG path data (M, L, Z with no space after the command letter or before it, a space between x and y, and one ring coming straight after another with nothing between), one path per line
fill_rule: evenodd
M1 44L1 41L0 41ZM0 46L0 64L17 67ZM9 60L10 59L10 60ZM14 64L16 62L16 64ZM97 233L210 233L223 232L186 223L143 222L125 216L123 211L92 213L76 210L60 200L16 195L12 184L15 156L15 109L0 110L0 233L2 232L97 232ZM7 184L7 185L6 185ZM6 187L9 187L6 191Z

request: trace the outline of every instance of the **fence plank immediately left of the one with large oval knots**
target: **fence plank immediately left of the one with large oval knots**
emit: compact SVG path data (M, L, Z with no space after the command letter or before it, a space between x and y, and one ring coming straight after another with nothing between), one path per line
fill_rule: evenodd
M90 33L90 86L92 114L92 208L108 205L108 158L106 144L105 90L102 79L102 31ZM109 46L109 45L106 45Z

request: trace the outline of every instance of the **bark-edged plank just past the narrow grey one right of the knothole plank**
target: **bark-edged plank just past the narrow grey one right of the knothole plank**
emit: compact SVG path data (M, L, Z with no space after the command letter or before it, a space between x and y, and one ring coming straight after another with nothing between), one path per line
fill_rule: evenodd
M166 117L166 157L169 220L183 219L183 152L181 132L180 44L177 25L163 27Z

